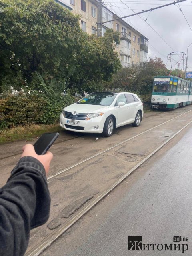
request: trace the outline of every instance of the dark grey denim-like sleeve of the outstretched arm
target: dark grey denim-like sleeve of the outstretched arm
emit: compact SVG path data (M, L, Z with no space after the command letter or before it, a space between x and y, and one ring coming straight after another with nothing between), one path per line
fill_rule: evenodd
M0 188L0 256L22 256L30 230L49 218L50 194L43 165L24 156Z

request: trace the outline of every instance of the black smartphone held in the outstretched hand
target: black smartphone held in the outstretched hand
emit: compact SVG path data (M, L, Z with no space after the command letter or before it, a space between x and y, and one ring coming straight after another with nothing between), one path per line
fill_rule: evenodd
M36 154L44 155L58 136L58 132L42 134L33 145Z

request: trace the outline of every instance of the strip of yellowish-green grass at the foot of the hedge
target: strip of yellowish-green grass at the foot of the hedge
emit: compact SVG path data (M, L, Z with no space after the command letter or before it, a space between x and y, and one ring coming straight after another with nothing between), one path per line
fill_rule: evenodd
M60 132L62 129L58 124L31 124L17 126L14 128L0 131L0 144L16 140L33 140L44 132Z

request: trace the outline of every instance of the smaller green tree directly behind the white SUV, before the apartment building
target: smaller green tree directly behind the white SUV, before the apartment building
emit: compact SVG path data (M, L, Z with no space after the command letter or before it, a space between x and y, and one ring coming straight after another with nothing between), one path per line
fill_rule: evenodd
M103 37L97 38L84 33L86 44L78 50L78 66L75 75L70 76L68 88L79 92L101 90L101 81L109 81L121 64L115 43L119 44L119 33L107 30Z

